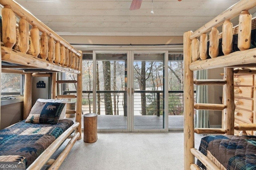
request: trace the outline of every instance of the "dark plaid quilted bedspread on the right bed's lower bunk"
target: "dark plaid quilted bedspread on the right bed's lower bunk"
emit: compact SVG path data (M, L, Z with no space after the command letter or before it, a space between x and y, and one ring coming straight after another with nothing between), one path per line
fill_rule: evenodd
M199 150L220 169L256 170L256 136L206 136ZM206 169L199 160L197 164Z

